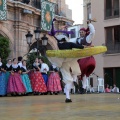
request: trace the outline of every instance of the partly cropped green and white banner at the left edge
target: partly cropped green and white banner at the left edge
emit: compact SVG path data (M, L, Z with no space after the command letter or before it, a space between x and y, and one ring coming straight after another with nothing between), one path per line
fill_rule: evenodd
M7 20L7 3L6 0L0 0L0 20Z

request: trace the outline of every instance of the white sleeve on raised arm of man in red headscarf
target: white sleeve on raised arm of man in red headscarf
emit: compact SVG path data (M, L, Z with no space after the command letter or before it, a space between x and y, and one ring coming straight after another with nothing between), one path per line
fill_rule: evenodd
M91 43L95 36L95 28L91 23L89 23L88 27L90 30L90 34L86 37L86 42Z

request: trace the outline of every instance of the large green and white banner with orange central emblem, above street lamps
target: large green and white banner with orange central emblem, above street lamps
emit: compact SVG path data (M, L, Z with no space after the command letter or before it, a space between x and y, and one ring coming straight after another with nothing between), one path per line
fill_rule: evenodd
M44 1L41 3L41 29L51 30L52 20L55 17L55 4Z

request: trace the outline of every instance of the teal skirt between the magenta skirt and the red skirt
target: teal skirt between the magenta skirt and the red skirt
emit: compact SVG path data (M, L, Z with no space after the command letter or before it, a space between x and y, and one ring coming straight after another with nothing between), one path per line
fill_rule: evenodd
M26 93L32 92L29 76L27 74L23 74L23 75L21 75L21 78L22 78L22 82L26 88Z

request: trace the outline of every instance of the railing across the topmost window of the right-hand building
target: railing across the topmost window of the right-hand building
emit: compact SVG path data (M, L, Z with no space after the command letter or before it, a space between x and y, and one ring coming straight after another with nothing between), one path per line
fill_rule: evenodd
M106 9L105 12L106 12L105 13L105 19L116 18L116 17L119 17L119 15L120 15L120 9L119 8Z

